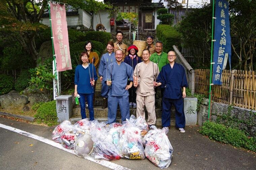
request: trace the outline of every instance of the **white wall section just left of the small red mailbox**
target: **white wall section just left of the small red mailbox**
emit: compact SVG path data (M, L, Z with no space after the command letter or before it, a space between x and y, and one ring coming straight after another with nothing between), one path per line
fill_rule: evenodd
M103 24L106 29L106 32L110 32L110 19L108 18L108 12L104 10L100 11L100 18L99 18L99 13L94 14L93 29L96 30L96 25L100 24L100 19L101 19L101 24Z

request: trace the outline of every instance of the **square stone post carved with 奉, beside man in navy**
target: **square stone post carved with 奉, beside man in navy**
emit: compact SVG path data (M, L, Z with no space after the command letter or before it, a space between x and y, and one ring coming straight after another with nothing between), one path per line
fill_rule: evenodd
M197 123L197 98L185 97L184 98L184 113L186 118L186 126L196 125Z

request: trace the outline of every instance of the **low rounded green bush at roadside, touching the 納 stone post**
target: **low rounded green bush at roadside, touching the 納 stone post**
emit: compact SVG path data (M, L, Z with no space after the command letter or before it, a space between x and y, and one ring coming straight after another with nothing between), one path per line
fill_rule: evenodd
M35 118L38 118L42 122L50 125L57 125L58 117L56 112L56 101L40 104L36 111Z

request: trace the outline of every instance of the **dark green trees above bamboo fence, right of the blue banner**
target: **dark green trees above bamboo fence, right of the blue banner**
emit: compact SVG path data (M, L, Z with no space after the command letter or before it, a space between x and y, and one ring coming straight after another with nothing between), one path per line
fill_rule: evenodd
M233 57L236 58L234 68L243 66L244 70L255 70L256 1L232 0L229 5L231 34L238 38L237 42L232 41Z

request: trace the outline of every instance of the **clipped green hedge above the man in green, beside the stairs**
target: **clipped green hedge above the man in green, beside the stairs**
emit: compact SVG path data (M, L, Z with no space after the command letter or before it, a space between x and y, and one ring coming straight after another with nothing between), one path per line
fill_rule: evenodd
M181 34L169 25L157 25L156 36L163 42L163 51L173 50L172 45L181 48Z

